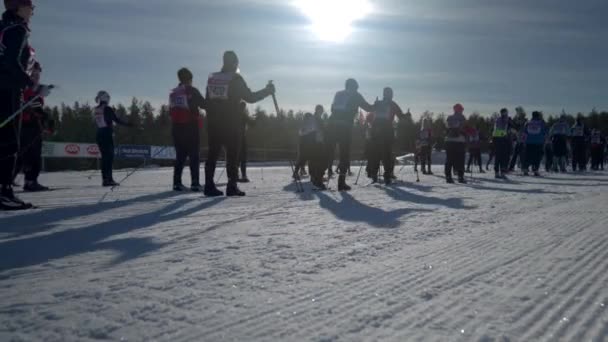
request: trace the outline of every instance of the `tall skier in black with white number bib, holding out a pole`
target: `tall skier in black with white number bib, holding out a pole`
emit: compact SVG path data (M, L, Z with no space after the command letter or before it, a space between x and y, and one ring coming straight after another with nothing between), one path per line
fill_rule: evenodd
M226 51L220 72L213 73L207 81L207 132L209 155L205 163L205 196L222 196L214 182L215 168L222 149L226 149L226 196L245 196L238 186L238 160L241 147L241 102L258 102L274 94L274 85L252 92L239 73L239 59L233 51Z

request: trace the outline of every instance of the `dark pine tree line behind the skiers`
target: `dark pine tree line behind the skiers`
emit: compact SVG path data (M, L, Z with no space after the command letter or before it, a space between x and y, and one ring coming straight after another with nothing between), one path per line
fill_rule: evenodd
M78 142L95 143L95 125L93 123L93 109L89 104L74 103L72 106L62 104L59 107L47 108L56 122L57 133L47 138L47 141L56 142ZM115 107L119 117L142 130L130 130L128 128L117 127L115 131L115 143L129 145L172 145L171 138L171 118L166 105L154 108L147 101L140 101L133 98L129 106L118 104ZM585 117L586 125L590 128L600 129L604 134L608 133L608 112L592 110L590 113L559 113L545 115L545 120L549 125L553 124L562 114L567 115L571 124L574 124L578 116ZM286 160L294 158L297 150L298 129L304 116L302 111L281 110L278 114L270 114L260 107L255 108L249 113L252 123L247 131L249 144L249 159L252 161L263 160ZM468 124L475 126L480 131L482 138L491 136L494 119L498 113L485 114L472 113L468 116ZM435 148L443 149L443 136L445 133L445 113L432 113L426 111L418 118L414 119L407 116L396 123L396 153L410 153L415 149L417 132L420 130L422 119L431 120L431 127L435 139ZM530 117L522 107L517 107L514 120L518 121L522 117ZM328 114L324 115L327 120ZM357 119L358 120L358 119ZM365 130L355 122L353 125L353 156L355 159L361 158L365 140ZM206 154L207 132L201 131L201 147L203 160ZM484 148L486 148L484 146ZM134 166L140 164L137 160L118 160L117 167ZM157 164L169 165L168 162L158 162ZM88 169L95 166L95 161L91 160L47 160L48 170L58 169Z

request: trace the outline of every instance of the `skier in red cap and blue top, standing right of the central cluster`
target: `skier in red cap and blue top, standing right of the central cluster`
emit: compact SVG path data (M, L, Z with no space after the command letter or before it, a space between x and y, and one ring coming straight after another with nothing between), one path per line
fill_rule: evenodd
M454 114L448 116L446 122L448 131L445 137L445 179L448 183L454 183L452 170L458 174L459 183L466 183L464 179L466 118L462 114L463 112L464 107L460 103L454 105Z

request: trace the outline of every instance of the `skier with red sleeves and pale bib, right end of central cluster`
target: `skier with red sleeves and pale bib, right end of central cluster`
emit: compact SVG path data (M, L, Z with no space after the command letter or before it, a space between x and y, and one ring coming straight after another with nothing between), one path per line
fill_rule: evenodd
M393 101L393 89L390 87L384 88L382 100L374 103L374 111L370 113L369 117L372 152L368 163L373 183L378 182L381 160L382 165L384 165L384 183L388 185L392 182L395 160L393 157L393 142L395 139L393 122L395 117L402 118L404 115L399 105Z

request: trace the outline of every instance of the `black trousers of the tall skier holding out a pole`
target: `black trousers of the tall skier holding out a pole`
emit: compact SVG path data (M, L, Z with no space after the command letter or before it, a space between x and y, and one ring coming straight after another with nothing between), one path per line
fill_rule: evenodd
M236 184L239 177L239 150L243 137L242 128L238 121L230 122L211 122L207 123L207 133L209 137L209 155L205 163L205 183L206 185L215 184L215 169L217 160L222 151L226 150L226 175L228 183Z

